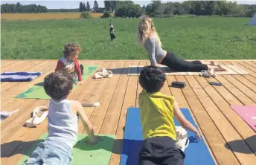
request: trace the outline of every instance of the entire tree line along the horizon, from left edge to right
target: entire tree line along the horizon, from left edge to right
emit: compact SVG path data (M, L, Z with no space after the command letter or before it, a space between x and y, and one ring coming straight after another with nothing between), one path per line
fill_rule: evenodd
M104 9L99 7L97 1L91 9L89 2L80 1L77 9L47 9L36 4L22 5L1 4L1 13L46 13L46 12L115 12L117 17L138 17L147 14L152 17L173 15L196 15L196 16L241 16L252 17L256 13L256 4L237 4L236 1L183 1L167 2L151 1L147 6L141 7L133 1L104 1Z

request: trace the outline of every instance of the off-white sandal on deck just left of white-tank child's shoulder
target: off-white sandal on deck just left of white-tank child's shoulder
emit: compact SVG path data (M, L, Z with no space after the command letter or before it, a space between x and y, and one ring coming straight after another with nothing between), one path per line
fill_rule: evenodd
M48 111L42 111L46 109L48 109L46 106L37 106L36 109L33 109L32 117L26 121L27 127L36 127L39 123L42 123L48 116Z

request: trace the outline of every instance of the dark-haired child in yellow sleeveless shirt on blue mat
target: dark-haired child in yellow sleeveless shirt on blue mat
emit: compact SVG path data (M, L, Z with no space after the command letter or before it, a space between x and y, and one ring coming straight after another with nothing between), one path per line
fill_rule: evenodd
M139 83L143 90L139 94L141 125L144 145L139 155L139 164L182 165L185 153L176 147L176 126L179 124L196 134L197 129L185 119L174 97L159 92L166 81L165 74L156 66L142 69Z

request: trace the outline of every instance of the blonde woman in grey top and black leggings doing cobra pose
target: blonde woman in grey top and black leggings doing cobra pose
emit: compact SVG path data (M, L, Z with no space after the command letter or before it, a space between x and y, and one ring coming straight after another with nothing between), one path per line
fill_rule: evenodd
M170 51L161 48L161 40L156 28L149 16L141 17L138 25L138 44L143 45L147 50L151 65L166 65L173 71L199 72L214 69L214 71L226 71L220 65L210 62L209 64L200 61L185 61Z

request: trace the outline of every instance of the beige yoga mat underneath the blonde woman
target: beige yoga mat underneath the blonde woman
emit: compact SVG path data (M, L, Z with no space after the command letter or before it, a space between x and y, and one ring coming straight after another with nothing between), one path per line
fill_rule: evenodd
M236 74L249 74L248 71L243 70L243 68L240 68L237 65L221 65L223 68L225 68L227 71L217 71L217 75L236 75ZM140 71L144 66L143 65L129 65L129 71L131 71L131 68L138 68L138 71ZM170 68L167 68L167 66L160 65L161 71L164 71L166 75L199 75L200 72L179 72L179 71L170 71ZM138 76L139 73L128 73L129 76Z

